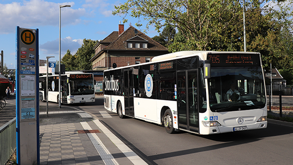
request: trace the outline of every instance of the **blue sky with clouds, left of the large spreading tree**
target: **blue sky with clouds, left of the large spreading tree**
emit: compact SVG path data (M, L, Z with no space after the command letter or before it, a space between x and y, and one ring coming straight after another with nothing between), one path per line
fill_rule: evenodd
M39 56L49 61L59 61L59 6L61 8L61 58L69 49L74 55L82 46L83 40L103 40L113 31L118 31L121 16L112 15L114 5L127 0L0 0L0 51L3 50L3 62L8 69L16 68L16 27L39 29ZM127 16L126 30L130 23L135 26L136 18ZM158 35L155 28L150 27L147 36Z

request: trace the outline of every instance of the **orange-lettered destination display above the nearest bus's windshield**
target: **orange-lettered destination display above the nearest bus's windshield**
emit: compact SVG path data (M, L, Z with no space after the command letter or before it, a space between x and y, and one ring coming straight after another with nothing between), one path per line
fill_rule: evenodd
M209 54L211 66L249 66L259 64L259 55L256 54Z

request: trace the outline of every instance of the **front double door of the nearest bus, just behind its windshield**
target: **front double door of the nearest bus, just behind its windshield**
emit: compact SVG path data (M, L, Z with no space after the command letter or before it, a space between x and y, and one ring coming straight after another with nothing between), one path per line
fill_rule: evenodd
M198 132L197 70L177 72L177 106L179 128Z

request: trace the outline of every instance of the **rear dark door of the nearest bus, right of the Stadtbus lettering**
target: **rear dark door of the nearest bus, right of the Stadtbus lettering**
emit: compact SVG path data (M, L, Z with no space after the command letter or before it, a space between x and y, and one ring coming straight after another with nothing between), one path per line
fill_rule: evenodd
M128 116L134 116L133 84L132 69L124 70L124 104L125 114Z

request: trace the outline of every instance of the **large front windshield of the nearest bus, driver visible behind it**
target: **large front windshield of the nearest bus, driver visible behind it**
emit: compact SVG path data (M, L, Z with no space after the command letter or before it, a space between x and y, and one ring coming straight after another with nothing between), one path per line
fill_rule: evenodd
M209 107L213 112L263 108L265 84L260 66L211 67Z

